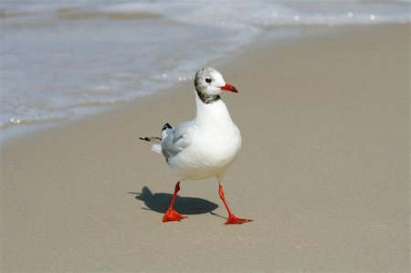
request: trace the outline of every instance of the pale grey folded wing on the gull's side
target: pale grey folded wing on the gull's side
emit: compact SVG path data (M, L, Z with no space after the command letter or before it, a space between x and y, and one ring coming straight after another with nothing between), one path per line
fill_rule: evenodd
M186 121L175 128L165 128L162 131L162 150L166 159L182 152L190 145L194 126L192 121Z

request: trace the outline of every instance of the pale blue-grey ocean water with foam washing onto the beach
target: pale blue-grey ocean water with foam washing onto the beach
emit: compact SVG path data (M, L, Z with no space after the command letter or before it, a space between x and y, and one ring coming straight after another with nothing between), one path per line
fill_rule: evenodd
M193 80L267 31L409 21L409 0L0 0L0 135Z

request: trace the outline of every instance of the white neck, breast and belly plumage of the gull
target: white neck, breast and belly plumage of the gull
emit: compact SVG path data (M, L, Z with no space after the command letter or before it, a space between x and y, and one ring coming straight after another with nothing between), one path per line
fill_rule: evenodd
M231 120L223 100L205 104L196 92L195 100L195 120L184 122L171 131L174 138L182 137L177 145L188 143L181 152L167 159L180 181L222 175L241 148L240 131ZM168 141L167 138L164 140ZM162 142L162 146L166 142Z

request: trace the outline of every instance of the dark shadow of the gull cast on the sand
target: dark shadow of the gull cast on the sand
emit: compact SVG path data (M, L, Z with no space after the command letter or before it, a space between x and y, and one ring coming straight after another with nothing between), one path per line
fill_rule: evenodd
M142 193L128 193L135 194L135 199L144 202L147 208L142 209L152 210L157 213L165 213L173 194L153 194L147 186L142 187ZM175 198L174 209L183 215L201 215L212 213L218 205L208 200L196 197L181 197L177 195Z

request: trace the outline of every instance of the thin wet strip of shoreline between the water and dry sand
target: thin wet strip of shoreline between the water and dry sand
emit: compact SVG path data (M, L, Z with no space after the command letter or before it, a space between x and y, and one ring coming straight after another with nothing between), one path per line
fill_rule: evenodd
M321 38L323 36L341 36L344 32L353 32L353 31L366 31L368 28L378 27L378 26L404 26L404 24L399 23L385 23L385 24L378 24L378 25L369 25L369 26L333 26L330 27L319 27L313 26L312 28L309 26L290 26L289 28L293 29L290 32L290 29L286 31L287 28L277 28L277 27L269 27L269 30L266 30L261 37L258 37L256 41L252 44L247 46L242 46L235 49L233 52L229 52L230 56L225 58L218 57L213 59L211 62L215 64L216 68L224 67L226 63L230 63L234 61L236 58L241 58L241 56L247 54L249 47L256 47L258 45L264 44L284 44L284 43L291 43L295 40L306 40L306 39L314 39L314 38ZM359 30L361 29L361 30ZM277 32L279 31L280 32ZM286 31L286 32L285 32ZM303 33L306 32L306 33ZM206 65L211 65L207 63ZM213 65L211 65L213 66ZM193 72L195 73L195 71ZM176 90L187 89L188 86L192 84L192 80L184 80L184 81L176 81L170 87L165 88L167 92L175 92ZM181 87L181 88L180 88ZM139 107L140 104L143 104L146 100L156 100L154 98L158 98L158 96L163 96L164 89L157 89L154 90L151 94L140 95L135 97L131 100L127 101L117 101L112 104L106 105L90 105L90 106L79 106L73 109L73 116L68 118L62 118L60 120L56 119L56 121L34 121L33 123L25 123L22 125L7 125L5 128L0 129L0 146L6 145L9 142L16 142L21 138L30 137L36 135L37 133L43 133L44 131L56 130L61 126L70 126L73 123L87 120L92 117L99 116L100 114L104 114L105 112L110 113L111 111L121 110L130 105L135 105Z

